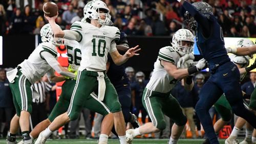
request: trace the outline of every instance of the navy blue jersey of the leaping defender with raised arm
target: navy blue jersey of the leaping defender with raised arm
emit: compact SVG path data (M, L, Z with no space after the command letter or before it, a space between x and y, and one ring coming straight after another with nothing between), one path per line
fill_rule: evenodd
M222 28L212 14L201 14L193 5L184 2L185 9L197 21L197 46L209 67L230 61L224 47Z

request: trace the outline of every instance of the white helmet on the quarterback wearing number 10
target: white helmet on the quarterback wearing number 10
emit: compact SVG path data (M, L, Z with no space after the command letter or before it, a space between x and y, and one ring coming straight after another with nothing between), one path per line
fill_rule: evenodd
M105 11L105 13L100 13L100 10ZM109 8L100 0L93 0L87 3L83 8L83 16L86 19L98 19L100 25L107 25L111 19ZM101 19L100 16L105 16L105 19Z

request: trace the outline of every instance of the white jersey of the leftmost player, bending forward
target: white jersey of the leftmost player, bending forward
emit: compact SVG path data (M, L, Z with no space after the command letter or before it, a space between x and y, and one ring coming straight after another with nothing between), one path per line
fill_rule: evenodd
M57 58L56 46L50 42L40 43L30 54L29 58L24 60L18 66L22 67L22 73L28 78L30 83L41 79L52 67L41 57L41 52L49 52Z

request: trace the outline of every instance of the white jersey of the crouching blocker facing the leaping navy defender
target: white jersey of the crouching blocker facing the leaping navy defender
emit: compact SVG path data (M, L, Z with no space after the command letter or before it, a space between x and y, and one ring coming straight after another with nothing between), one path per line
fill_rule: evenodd
M177 65L180 55L174 50L172 46L165 46L160 49L157 61L154 64L154 70L150 81L147 83L146 88L167 93L172 90L178 80L170 76L164 67L161 65L161 60L168 61Z

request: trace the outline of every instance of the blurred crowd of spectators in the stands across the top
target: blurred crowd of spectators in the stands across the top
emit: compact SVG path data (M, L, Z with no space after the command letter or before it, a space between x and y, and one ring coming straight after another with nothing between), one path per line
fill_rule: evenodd
M197 0L188 0L191 3ZM47 0L1 0L0 35L39 34L47 22L42 7ZM57 24L69 29L83 17L87 0L53 1L58 5ZM173 36L183 28L185 9L176 0L104 0L115 26L127 35ZM256 0L206 0L214 8L227 37L256 37Z

